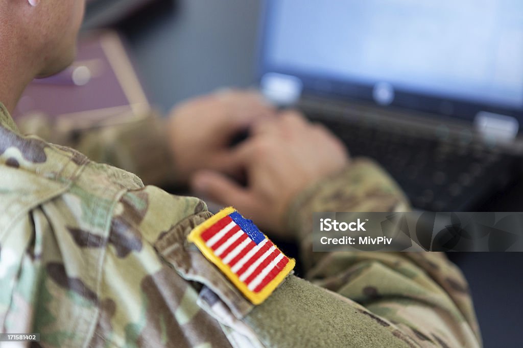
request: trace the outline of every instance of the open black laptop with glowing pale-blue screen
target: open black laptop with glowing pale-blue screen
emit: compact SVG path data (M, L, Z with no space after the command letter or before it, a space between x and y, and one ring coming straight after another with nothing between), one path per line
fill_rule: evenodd
M412 205L481 210L521 177L523 2L266 0L263 93L379 162Z

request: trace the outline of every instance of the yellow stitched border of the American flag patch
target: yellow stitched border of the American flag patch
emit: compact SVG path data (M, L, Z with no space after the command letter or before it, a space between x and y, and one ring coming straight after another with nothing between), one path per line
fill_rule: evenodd
M196 226L187 236L187 240L191 243L194 243L201 251L203 256L205 256L209 261L211 261L215 266L217 266L220 269L220 271L222 271L222 273L225 274L226 277L229 278L229 280L236 286L236 288L240 290L242 294L245 297L247 297L247 299L249 299L249 301L251 301L255 305L258 305L264 302L265 299L269 297L269 295L276 289L276 287L278 287L278 285L287 277L290 271L292 271L292 269L294 268L296 262L294 259L289 258L289 262L287 263L287 265L278 273L278 275L276 275L274 279L272 279L267 285L265 285L264 289L260 292L255 293L254 291L249 290L247 285L244 282L242 282L235 273L231 271L231 268L228 265L225 265L225 263L223 263L220 257L214 255L212 249L206 245L206 243L203 241L201 237L203 232L207 231L219 220L235 211L236 209L232 207L227 207L220 210L220 212L218 212L216 215L213 215L206 221ZM266 235L265 238L269 239ZM280 253L282 253L276 245L275 247L280 251Z

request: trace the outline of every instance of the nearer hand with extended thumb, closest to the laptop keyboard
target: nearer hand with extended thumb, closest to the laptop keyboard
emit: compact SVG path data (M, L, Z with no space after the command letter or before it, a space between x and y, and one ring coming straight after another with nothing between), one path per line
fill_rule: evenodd
M200 171L193 188L234 206L265 231L292 238L284 220L291 200L306 186L342 170L349 162L343 144L321 125L297 112L256 124L235 153L247 173L247 187L213 171Z

